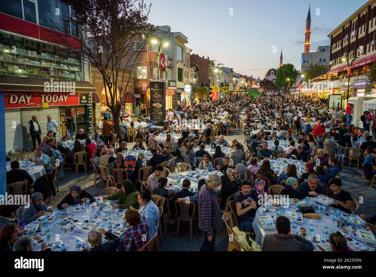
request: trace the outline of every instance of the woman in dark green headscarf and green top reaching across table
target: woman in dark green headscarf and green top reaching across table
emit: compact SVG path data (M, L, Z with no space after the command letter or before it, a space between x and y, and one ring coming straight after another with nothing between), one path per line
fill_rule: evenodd
M112 206L112 209L129 209L129 207L139 208L137 202L138 191L135 189L132 181L124 180L121 183L121 190L115 194L100 196L103 199L110 201L117 200L116 204Z

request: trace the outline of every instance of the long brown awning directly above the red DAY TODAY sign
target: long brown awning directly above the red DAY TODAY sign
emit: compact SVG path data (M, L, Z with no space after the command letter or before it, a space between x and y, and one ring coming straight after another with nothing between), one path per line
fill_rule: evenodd
M48 85L47 85L48 83ZM33 92L45 92L45 87L48 87L49 91L59 92L96 92L94 87L89 82L83 81L64 81L64 80L52 80L52 79L39 79L39 78L26 78L16 76L0 75L0 91L33 91ZM55 89L55 90L54 90Z

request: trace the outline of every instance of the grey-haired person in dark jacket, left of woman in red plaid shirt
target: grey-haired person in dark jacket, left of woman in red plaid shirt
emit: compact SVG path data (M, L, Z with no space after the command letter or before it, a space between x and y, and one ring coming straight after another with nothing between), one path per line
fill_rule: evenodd
M102 244L103 235L109 241ZM119 245L119 238L103 228L91 230L88 234L88 242L92 246L90 251L116 251Z

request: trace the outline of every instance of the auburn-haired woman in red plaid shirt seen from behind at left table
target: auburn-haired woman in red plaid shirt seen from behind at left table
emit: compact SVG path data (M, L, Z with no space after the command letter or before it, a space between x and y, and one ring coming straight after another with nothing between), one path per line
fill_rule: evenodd
M149 227L147 222L142 219L138 211L134 208L129 208L124 215L125 220L129 224L124 237L123 251L140 251L141 248L148 242L144 239L149 236Z

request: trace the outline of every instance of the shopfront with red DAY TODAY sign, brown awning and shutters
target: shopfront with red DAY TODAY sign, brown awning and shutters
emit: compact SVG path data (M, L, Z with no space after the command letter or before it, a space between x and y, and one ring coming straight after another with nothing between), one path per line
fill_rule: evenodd
M41 140L47 136L47 116L59 125L56 139L66 133L65 122L70 116L76 130L92 133L92 96L95 87L88 82L75 82L74 87L45 86L46 80L37 78L0 76L0 91L4 94L6 116L6 152L20 152L32 148L27 135L27 123L37 116L42 129ZM58 83L58 82L56 82ZM59 90L65 91L59 92ZM81 92L76 92L81 90Z

